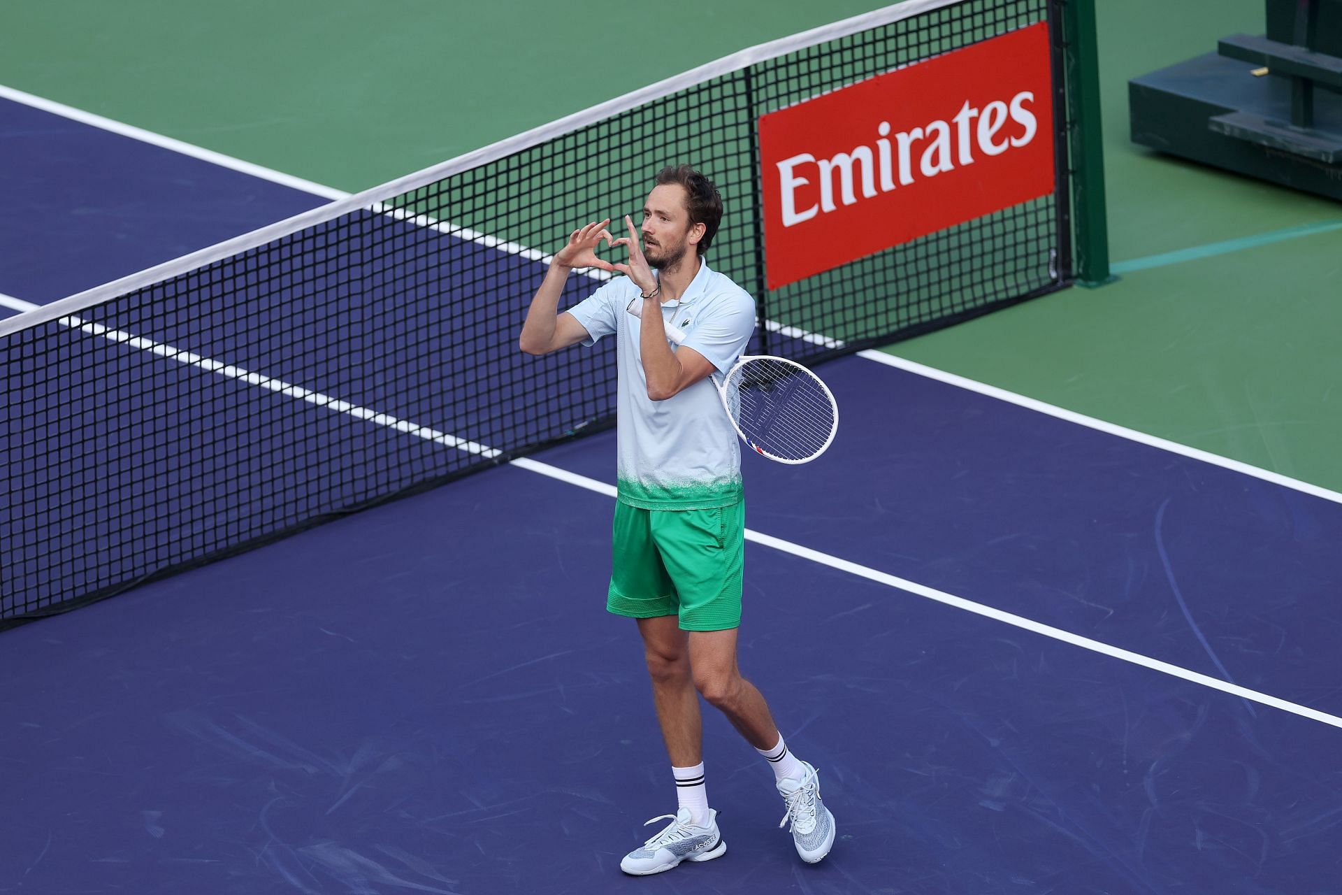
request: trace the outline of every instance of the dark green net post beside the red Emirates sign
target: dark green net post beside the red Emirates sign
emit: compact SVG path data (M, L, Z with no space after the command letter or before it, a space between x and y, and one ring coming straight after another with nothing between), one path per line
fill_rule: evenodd
M1095 0L1064 0L1067 105L1071 118L1072 221L1076 228L1076 284L1103 286L1108 268L1104 219L1104 146L1099 103L1099 44Z

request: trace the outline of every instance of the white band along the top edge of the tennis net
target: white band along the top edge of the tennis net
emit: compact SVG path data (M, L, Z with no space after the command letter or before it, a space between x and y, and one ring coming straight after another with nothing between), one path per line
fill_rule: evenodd
M0 338L12 335L13 333L47 323L70 314L76 314L86 310L94 305L105 302L110 298L118 298L126 295L145 286L158 283L162 280L180 276L183 274L200 270L215 262L223 260L225 258L232 258L248 250L264 246L276 239L282 239L291 233L297 233L309 227L315 227L323 224L336 217L341 217L353 211L360 211L370 207L377 207L389 199L403 196L411 191L419 189L427 184L437 182L452 174L458 174L463 170L470 170L493 161L498 161L506 156L530 149L531 146L539 145L556 137L562 137L564 134L572 133L597 122L603 118L628 111L654 99L660 99L686 87L711 81L719 75L738 71L741 68L747 68L756 63L768 62L769 59L776 59L778 56L796 52L798 50L805 50L821 43L828 43L839 38L847 38L870 28L891 24L894 21L900 21L913 16L918 16L934 9L941 9L943 7L953 7L968 0L906 0L905 3L898 3L894 5L883 7L880 9L874 9L872 12L866 12L859 16L852 16L851 19L843 19L841 21L835 21L828 25L821 25L819 28L812 28L811 31L803 31L800 34L790 35L788 38L780 38L778 40L772 40L769 43L762 43L754 47L747 47L746 50L737 51L729 56L723 56L714 62L705 63L696 68L691 68L679 75L674 75L664 81L659 81L647 87L640 87L632 93L627 93L623 97L616 97L615 99L608 99L607 102L590 106L582 111L576 111L572 115L565 115L552 121L548 125L541 125L539 127L533 127L525 133L517 134L515 137L509 137L498 142L490 144L480 149L464 153L448 161L440 162L431 168L424 168L423 170L407 174L397 180L388 181L378 187L372 187L360 193L354 193L348 199L341 199L326 205L321 205L311 211L294 215L285 220L276 221L267 227L254 229L248 233L243 233L234 239L216 243L196 252L183 255L181 258L164 262L154 267L145 268L137 274L130 274L119 279L103 283L102 286L95 286L83 293L76 293L68 298L59 299L50 305L43 305L42 307L34 309L31 311L24 311L15 317L0 321ZM400 212L400 209L392 208L377 208L377 211L385 211L388 213L400 213L409 220L423 219L424 216L415 216L408 212ZM511 254L534 256L534 260L548 260L548 255L539 252L534 248L526 248L523 246L513 246L502 240L488 238L484 233L474 233L466 228L454 227L447 221L432 221L435 227L450 231L466 239L476 239L488 242L491 247L509 251Z

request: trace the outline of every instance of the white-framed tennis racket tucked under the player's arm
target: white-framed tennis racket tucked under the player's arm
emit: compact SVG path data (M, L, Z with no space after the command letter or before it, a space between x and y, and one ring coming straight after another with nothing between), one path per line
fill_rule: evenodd
M643 317L643 302L628 309ZM666 323L679 345L684 333ZM825 452L839 431L839 404L819 376L796 361L768 354L742 356L726 376L713 374L722 408L752 451L778 463L809 463Z

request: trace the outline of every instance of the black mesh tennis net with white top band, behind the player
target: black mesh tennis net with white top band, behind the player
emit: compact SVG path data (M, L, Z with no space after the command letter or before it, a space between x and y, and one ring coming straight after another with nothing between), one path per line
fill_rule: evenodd
M613 339L531 358L517 334L545 252L666 164L722 192L709 262L756 295L756 352L821 361L1066 286L1060 89L1048 195L778 288L760 140L761 115L1039 23L1063 83L1063 8L880 9L0 322L0 625L608 427Z

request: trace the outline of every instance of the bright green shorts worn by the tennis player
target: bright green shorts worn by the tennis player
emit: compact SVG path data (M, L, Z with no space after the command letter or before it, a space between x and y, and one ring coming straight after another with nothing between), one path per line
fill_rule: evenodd
M745 501L714 510L641 510L615 502L611 590L617 616L680 616L683 631L741 624Z

